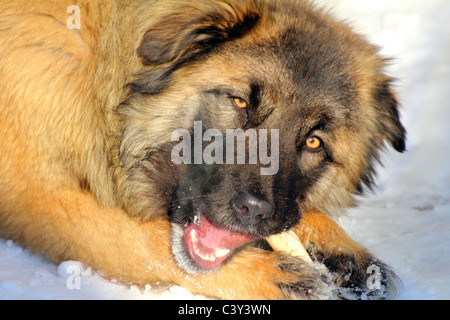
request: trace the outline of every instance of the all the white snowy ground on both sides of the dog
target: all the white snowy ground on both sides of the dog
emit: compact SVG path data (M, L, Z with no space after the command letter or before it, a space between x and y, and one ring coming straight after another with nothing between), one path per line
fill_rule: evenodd
M394 268L403 282L399 299L450 299L450 1L317 2L334 5L337 16L394 58L389 73L398 78L409 132L408 152L384 157L379 190L341 225ZM58 268L0 240L0 299L195 298L180 287L123 286L76 263Z

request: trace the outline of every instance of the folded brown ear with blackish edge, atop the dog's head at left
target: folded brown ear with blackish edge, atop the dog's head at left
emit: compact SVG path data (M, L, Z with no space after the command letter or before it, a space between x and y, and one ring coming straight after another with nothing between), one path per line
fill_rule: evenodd
M146 65L196 59L220 43L240 38L250 31L259 20L253 9L227 1L196 2L150 27L137 53Z

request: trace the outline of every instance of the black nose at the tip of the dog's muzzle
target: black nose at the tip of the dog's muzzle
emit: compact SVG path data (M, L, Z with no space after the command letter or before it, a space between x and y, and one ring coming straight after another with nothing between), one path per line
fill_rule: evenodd
M233 199L236 217L245 225L257 224L273 214L273 205L247 192L238 192Z

